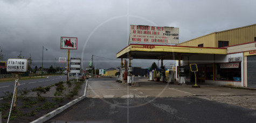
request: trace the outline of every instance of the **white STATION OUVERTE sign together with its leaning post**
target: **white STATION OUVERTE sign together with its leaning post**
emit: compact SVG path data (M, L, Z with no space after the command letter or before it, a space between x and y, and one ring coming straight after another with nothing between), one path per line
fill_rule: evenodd
M8 59L7 61L6 71L16 74L15 86L13 90L12 102L11 102L11 107L10 107L10 112L9 112L9 117L7 122L9 122L9 119L10 119L12 104L13 104L13 109L14 110L16 109L17 90L18 90L17 87L19 86L18 76L19 74L27 72L27 66L28 66L27 64L28 64L27 59Z

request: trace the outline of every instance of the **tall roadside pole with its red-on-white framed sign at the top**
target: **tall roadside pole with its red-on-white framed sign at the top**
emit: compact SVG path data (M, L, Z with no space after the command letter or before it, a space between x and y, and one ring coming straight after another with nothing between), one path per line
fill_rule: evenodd
M67 55L67 73L70 68L70 49L77 50L77 37L60 37L60 49L68 49ZM68 81L68 74L67 74Z

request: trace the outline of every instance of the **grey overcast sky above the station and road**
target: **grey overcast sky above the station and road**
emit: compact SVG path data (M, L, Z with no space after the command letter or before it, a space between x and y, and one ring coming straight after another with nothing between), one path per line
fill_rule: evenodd
M44 66L49 68L55 58L67 57L60 37L78 37L78 50L71 50L70 56L83 58L84 67L92 55L109 58L94 57L96 68L106 69L120 66L116 53L128 44L129 25L177 27L181 43L256 24L255 5L255 0L0 0L0 46L4 60L17 58L22 51L24 58L31 54L38 67L44 46ZM132 63L149 67L153 61L157 63Z

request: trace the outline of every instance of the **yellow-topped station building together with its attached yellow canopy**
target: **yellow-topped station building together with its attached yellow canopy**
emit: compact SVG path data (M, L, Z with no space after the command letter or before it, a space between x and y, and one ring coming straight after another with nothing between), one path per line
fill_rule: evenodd
M177 60L186 82L195 80L190 64L197 64L197 81L256 88L256 24L214 32L178 45L129 44L116 58ZM194 78L193 78L194 76Z

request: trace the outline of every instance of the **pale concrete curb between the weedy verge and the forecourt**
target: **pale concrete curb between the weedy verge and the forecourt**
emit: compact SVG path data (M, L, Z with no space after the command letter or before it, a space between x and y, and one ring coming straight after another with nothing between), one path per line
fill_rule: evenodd
M88 80L86 80L86 84L85 84L85 92L84 92L84 95L74 99L73 101L67 103L66 105L63 105L61 107L59 107L58 109L56 110L53 110L52 112L50 113L47 113L45 114L44 116L30 122L30 123L43 123L47 120L50 120L51 118L53 118L54 116L56 116L57 114L63 112L64 110L66 110L68 107L78 103L79 101L81 101L82 99L86 98L86 91L87 91L87 86L88 86Z

